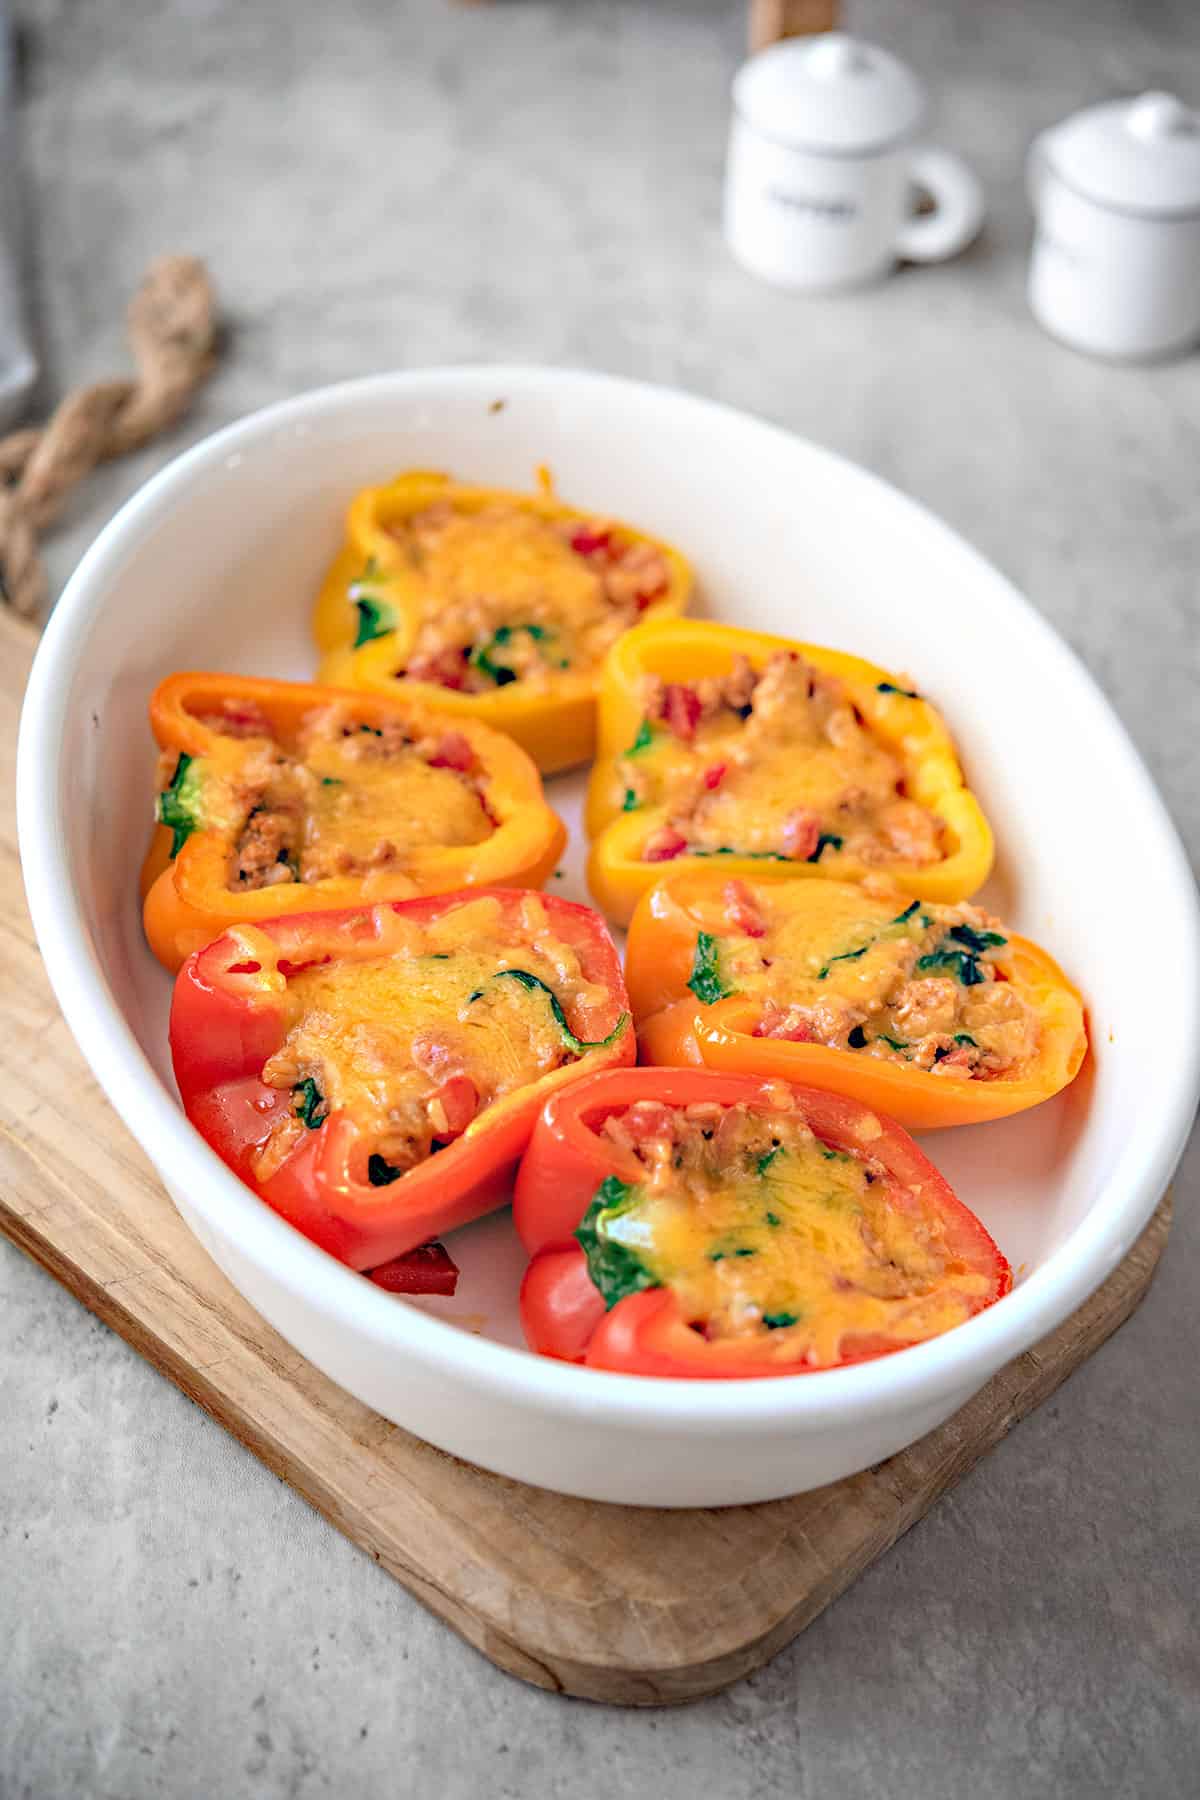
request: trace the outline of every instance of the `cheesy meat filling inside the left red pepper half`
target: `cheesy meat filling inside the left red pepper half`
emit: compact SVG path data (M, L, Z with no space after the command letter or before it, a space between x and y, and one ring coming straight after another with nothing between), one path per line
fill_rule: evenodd
M286 1035L263 1082L290 1089L293 1105L259 1179L338 1112L365 1143L367 1179L387 1186L497 1100L578 1060L612 1004L538 895L516 918L491 896L425 925L390 914L387 938L383 952L288 972Z

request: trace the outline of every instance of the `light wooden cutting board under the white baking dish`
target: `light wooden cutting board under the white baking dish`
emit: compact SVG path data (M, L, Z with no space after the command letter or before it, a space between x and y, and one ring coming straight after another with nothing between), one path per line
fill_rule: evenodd
M76 1049L16 859L13 761L31 653L32 634L0 616L0 1231L509 1674L649 1706L757 1669L1150 1287L1169 1197L1105 1287L948 1424L795 1499L666 1514L604 1507L421 1444L311 1368L234 1292Z

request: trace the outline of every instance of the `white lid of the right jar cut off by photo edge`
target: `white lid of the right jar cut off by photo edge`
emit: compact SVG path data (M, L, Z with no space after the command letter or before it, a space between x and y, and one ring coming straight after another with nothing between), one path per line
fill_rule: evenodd
M1200 113L1173 94L1087 106L1040 144L1047 167L1097 205L1200 212Z

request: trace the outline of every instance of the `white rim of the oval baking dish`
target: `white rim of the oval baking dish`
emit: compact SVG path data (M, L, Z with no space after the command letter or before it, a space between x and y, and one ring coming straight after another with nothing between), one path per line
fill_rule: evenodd
M480 396L489 396L498 387L529 391L561 383L601 383L639 394L649 389L680 407L718 414L730 425L750 418L721 401L597 371L520 364L394 371L311 389L259 409L175 457L133 493L81 558L47 625L25 695L18 747L18 830L29 907L58 1003L92 1073L151 1161L157 1166L169 1163L173 1184L187 1193L189 1206L205 1219L212 1213L214 1228L234 1240L250 1262L268 1267L288 1292L315 1305L335 1323L356 1332L369 1330L381 1350L398 1357L416 1352L426 1366L466 1377L482 1393L516 1391L545 1413L587 1409L597 1420L635 1431L653 1431L669 1422L684 1431L711 1431L720 1426L736 1436L761 1431L765 1424L786 1429L793 1422L811 1429L835 1417L878 1418L979 1386L995 1368L1027 1350L1081 1305L1146 1224L1182 1154L1200 1093L1200 1030L1195 1024L1182 1046L1184 1055L1164 1071L1162 1107L1139 1120L1085 1219L1002 1303L954 1332L873 1363L779 1381L698 1382L615 1375L554 1363L475 1337L414 1307L396 1305L392 1296L309 1244L225 1168L187 1125L108 992L88 941L58 815L59 747L67 697L86 643L85 626L99 610L104 585L124 558L128 540L153 526L175 504L180 490L209 464L243 450L263 434L290 430L300 423L304 430L311 430L322 409L336 409L358 394L378 396L380 389L387 389L410 398L423 387L435 392L448 382L477 387ZM1146 817L1162 841L1164 866L1175 871L1173 887L1184 927L1175 943L1178 992L1198 992L1200 907L1184 848L1139 751L1076 653L993 563L918 500L799 434L763 419L754 423L790 443L802 443L815 455L849 470L856 481L869 482L878 504L900 508L912 524L939 536L955 554L970 558L991 585L997 605L1009 608L1013 616L1024 616L1025 625L1036 628L1043 653L1056 664L1061 682L1074 686L1099 711L1105 727L1123 742Z

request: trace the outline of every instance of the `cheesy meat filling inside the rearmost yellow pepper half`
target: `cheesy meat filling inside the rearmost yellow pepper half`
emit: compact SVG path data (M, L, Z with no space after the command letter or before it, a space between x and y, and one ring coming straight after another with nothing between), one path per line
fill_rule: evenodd
M671 580L662 551L606 518L435 500L387 529L421 583L421 623L398 673L462 693L596 670Z

